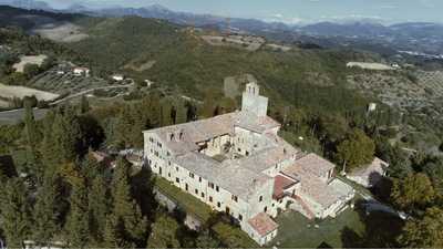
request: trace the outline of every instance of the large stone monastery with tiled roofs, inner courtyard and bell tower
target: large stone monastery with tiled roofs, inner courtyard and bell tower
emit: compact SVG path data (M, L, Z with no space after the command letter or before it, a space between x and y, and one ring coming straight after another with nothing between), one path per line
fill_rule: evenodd
M333 164L279 137L267 107L253 82L241 111L144 132L144 162L153 173L236 218L259 245L276 237L279 210L334 217L354 194L334 178Z

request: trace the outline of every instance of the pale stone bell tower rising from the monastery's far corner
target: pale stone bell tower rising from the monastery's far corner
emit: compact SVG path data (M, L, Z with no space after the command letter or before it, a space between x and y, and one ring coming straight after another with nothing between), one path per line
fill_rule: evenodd
M256 82L246 84L243 92L241 111L250 112L257 116L266 116L268 113L268 98L260 95L260 86Z

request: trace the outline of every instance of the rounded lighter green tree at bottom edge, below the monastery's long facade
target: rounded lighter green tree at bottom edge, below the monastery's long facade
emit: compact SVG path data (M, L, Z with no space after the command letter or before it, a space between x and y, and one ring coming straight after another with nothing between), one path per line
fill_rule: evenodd
M159 214L152 226L152 232L147 242L148 248L179 248L181 243L176 237L179 225L167 216Z

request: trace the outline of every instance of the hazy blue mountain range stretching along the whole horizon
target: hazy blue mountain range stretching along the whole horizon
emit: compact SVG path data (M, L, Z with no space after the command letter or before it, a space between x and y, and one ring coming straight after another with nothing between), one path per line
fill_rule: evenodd
M38 0L0 0L1 3L24 7L25 9L47 10L50 8L47 3ZM112 7L104 9L73 4L64 10L50 10L97 17L136 15L154 18L182 25L253 33L285 43L301 42L316 43L326 48L356 48L383 54L395 54L399 51L437 56L440 56L439 54L443 54L443 25L437 23L410 22L383 25L373 20L360 20L344 23L319 22L308 25L290 25L282 22L265 22L256 19L226 18L214 14L173 11L161 4L145 8Z

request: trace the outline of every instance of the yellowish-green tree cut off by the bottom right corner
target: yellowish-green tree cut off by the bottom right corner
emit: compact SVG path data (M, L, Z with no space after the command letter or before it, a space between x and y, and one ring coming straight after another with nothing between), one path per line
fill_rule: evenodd
M427 208L424 216L410 219L399 237L399 242L408 248L443 248L443 210Z

